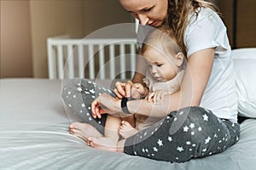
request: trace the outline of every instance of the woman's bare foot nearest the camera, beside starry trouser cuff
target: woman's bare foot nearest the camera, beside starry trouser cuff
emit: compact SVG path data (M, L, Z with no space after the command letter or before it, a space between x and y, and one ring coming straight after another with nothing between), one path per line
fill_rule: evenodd
M117 151L117 143L110 137L89 137L87 144L99 150Z

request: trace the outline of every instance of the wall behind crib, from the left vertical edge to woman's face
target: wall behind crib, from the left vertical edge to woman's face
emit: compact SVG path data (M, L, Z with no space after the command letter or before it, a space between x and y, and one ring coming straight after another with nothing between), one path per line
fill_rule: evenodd
M47 37L85 37L104 26L133 21L116 0L37 0L30 1L30 8L34 77L48 77Z

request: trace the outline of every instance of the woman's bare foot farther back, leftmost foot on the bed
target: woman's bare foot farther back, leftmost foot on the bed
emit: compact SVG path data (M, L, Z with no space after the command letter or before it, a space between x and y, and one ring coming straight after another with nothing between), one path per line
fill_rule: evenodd
M73 122L70 123L68 126L69 133L78 136L80 139L83 139L85 142L87 142L88 137L95 136L95 137L102 137L102 133L97 131L95 127L88 123L82 123L82 122Z

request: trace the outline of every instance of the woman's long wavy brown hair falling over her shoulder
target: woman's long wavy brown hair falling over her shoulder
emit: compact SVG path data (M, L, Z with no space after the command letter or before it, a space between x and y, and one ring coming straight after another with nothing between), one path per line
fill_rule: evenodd
M189 14L194 13L197 17L201 8L212 8L218 13L218 8L213 3L203 0L168 0L166 24L176 35L179 46L185 51L187 48L184 44L184 33L189 25Z

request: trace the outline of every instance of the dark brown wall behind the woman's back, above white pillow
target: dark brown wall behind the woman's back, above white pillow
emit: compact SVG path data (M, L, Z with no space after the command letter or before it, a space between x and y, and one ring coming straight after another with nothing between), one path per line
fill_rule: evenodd
M256 1L236 0L236 30L234 30L234 0L218 1L223 20L228 28L232 48L256 48ZM236 31L236 33L234 32ZM234 37L236 34L236 38Z

